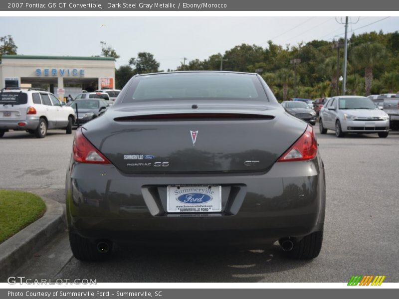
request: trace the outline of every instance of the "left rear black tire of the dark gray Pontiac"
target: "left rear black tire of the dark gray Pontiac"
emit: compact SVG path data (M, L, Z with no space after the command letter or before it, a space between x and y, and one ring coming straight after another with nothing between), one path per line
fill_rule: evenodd
M110 256L112 250L112 243L109 243L107 252L98 252L97 245L94 242L71 232L69 232L69 245L73 256L85 262L105 260Z

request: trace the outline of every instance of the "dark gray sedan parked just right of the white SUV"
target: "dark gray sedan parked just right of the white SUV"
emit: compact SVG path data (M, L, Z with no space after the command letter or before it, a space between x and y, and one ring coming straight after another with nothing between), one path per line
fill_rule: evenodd
M103 99L79 99L70 103L69 106L75 111L76 121L73 125L77 126L79 121L79 126L81 126L103 115L107 111L109 104ZM78 115L76 114L76 106L78 107Z

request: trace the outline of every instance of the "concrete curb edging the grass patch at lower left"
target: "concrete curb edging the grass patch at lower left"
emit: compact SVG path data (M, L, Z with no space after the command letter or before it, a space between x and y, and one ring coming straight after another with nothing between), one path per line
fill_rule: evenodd
M46 204L46 212L35 222L0 244L0 282L15 272L54 234L65 230L65 217L62 205L52 199L41 197Z

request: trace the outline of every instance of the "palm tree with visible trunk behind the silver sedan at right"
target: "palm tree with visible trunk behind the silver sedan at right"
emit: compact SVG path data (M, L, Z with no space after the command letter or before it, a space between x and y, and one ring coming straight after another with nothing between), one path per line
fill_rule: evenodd
M379 43L364 43L352 50L352 60L365 70L366 96L370 95L373 82L373 67L380 64L385 56L385 47Z

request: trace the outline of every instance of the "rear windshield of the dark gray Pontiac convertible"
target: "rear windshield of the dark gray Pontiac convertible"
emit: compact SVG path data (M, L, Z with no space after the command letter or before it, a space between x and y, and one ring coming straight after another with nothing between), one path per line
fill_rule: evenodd
M267 101L256 76L233 73L173 73L138 76L124 103L171 99Z

